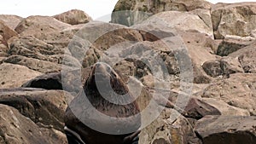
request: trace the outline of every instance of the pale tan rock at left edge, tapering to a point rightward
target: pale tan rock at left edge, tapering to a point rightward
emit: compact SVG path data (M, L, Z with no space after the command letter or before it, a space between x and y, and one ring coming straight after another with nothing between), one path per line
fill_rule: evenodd
M3 63L0 65L0 88L20 87L31 78L35 78L42 73L33 71L26 66Z

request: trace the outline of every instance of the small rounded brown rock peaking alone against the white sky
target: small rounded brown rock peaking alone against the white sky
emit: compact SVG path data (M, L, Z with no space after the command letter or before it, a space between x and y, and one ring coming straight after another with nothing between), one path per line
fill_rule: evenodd
M88 14L85 14L84 11L78 9L72 9L62 14L56 14L53 17L70 25L85 24L92 20Z

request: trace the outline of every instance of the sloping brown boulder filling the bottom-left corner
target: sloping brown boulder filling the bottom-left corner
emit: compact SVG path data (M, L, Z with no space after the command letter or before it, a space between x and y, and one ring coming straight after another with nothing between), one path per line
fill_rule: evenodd
M0 104L1 143L63 143L66 136L58 130L40 128L30 118L21 115L14 107Z

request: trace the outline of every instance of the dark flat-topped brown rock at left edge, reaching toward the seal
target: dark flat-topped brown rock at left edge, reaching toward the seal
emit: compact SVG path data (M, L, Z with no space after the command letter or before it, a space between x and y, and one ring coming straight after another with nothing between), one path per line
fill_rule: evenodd
M0 103L15 107L35 124L63 131L67 101L73 96L61 90L12 89L0 92Z

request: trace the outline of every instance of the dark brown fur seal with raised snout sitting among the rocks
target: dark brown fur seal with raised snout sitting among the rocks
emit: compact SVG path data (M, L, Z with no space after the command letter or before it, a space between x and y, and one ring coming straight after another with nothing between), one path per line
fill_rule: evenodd
M111 89L109 88L111 86ZM84 95L85 94L85 95ZM125 95L125 99L118 99ZM84 98L86 96L86 99ZM69 104L65 115L65 132L69 144L133 144L137 143L137 135L141 126L141 116L136 101L131 101L133 96L120 78L117 72L106 63L96 63L87 78L83 90L80 91ZM86 103L85 100L90 101ZM108 101L110 100L110 101ZM127 101L127 104L116 102ZM96 112L91 112L91 107ZM93 110L93 108L91 110ZM127 118L125 120L105 121L104 118L96 117L96 113L102 113L107 118ZM131 117L137 115L137 117ZM117 131L117 134L104 133L90 127L93 123L97 128ZM131 129L130 133L118 134L121 129Z

